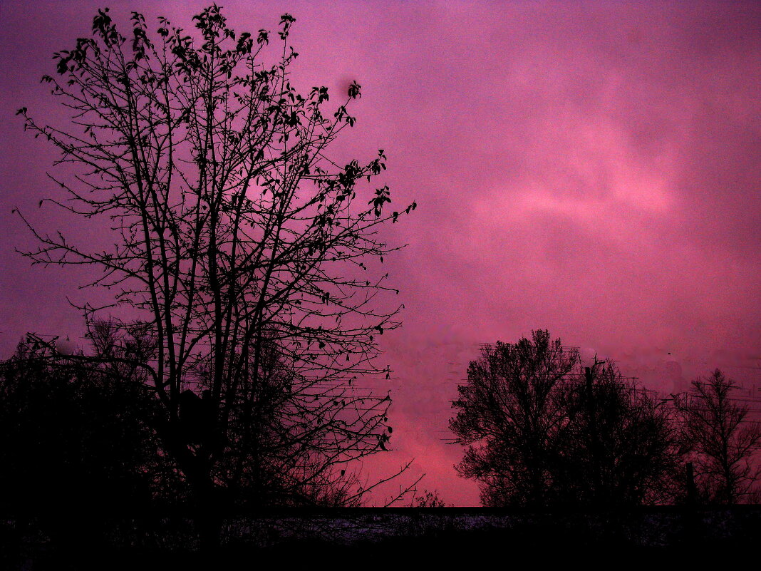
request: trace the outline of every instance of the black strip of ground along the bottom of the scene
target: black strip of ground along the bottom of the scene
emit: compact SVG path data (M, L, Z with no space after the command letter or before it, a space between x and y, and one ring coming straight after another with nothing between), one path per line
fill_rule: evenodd
M224 520L203 553L183 516L0 520L0 569L287 569L454 564L721 563L761 558L761 506L630 512L500 509L268 511ZM718 559L717 559L718 558ZM521 563L519 565L519 563ZM470 571L470 569L465 569Z

